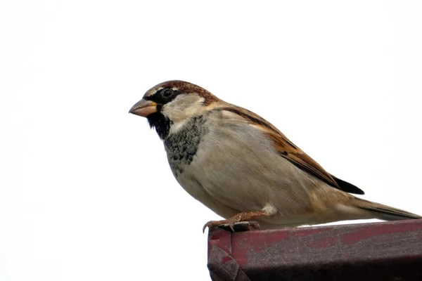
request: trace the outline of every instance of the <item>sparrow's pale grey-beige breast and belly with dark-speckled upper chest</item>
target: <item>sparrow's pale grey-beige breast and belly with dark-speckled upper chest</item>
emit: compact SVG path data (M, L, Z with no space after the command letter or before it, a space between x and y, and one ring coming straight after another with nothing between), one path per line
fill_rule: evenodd
M309 178L260 131L219 112L186 121L165 139L165 149L177 181L207 206L210 196L238 211L271 204L297 213L307 201Z

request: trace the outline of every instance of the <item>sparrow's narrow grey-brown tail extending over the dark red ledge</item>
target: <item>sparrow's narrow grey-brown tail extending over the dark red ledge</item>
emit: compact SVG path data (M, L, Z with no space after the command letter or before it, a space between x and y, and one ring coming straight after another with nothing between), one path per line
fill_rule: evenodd
M383 221L399 221L406 219L418 219L422 216L412 214L409 211L393 208L387 205L379 204L354 197L354 207L369 211L373 218L378 218Z

